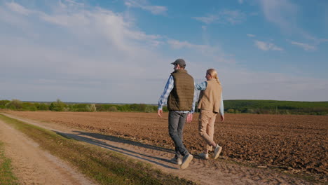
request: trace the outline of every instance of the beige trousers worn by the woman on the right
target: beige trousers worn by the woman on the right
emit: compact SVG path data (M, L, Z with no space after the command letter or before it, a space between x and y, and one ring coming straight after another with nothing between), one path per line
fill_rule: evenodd
M207 151L212 151L212 142L214 137L214 122L217 114L213 111L200 110L198 119L198 132L200 137L206 142Z

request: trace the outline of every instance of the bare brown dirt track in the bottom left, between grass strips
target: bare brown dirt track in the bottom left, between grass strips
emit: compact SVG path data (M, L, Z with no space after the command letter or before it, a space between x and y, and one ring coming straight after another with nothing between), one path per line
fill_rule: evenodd
M0 128L5 156L11 159L13 173L20 184L93 184L3 121L0 121Z

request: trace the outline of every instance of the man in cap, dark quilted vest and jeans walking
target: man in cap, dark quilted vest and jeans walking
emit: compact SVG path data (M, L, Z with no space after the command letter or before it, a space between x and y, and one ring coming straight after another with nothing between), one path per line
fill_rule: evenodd
M163 116L163 105L168 104L168 129L170 137L175 143L175 158L172 161L180 165L181 169L189 166L193 156L186 149L183 141L184 123L191 122L195 109L195 90L193 77L184 69L186 62L177 59L173 71L165 85L164 92L158 100L158 116Z

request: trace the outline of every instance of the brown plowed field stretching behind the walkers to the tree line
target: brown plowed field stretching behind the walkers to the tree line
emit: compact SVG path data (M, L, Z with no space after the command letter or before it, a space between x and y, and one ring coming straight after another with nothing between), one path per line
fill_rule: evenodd
M154 113L9 113L173 148L168 135L168 114L158 118ZM223 158L327 181L328 116L225 114L225 118L224 123L217 118L214 132L214 142L223 146ZM205 145L197 130L195 114L193 122L186 123L184 128L184 144L193 154L200 153Z

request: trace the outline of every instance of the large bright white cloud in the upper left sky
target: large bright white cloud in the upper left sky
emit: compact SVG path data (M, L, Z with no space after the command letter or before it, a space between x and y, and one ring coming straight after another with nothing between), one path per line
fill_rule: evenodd
M135 41L149 43L151 46L157 46L161 43L159 40L161 36L145 34L135 27L134 22L129 22L122 15L104 9L80 10L71 14L57 15L40 13L40 18L46 22L67 27L70 32L76 32L75 29L78 28L88 29L89 33L99 34L98 36L125 51L135 50L132 47ZM83 30L78 30L78 33L88 34Z

